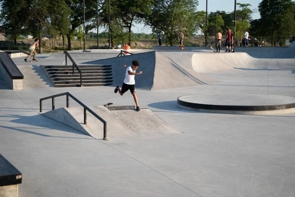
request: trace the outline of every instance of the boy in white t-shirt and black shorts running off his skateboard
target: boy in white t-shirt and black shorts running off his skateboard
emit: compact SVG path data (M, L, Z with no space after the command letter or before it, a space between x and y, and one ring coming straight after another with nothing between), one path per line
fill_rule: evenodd
M125 72L125 79L122 85L122 89L120 89L120 87L117 86L114 91L115 93L119 91L119 94L123 96L125 92L130 90L136 104L136 111L140 111L140 108L138 106L137 96L135 93L135 75L143 73L143 71L136 72L136 69L138 68L138 66L139 66L139 63L136 60L132 61L132 66L124 65L124 67L126 67L127 69Z

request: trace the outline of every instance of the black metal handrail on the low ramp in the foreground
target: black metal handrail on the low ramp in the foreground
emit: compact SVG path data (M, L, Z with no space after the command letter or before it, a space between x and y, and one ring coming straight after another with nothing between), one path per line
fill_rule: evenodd
M108 141L108 138L107 138L107 122L104 119L102 119L100 116L98 116L94 111L92 111L83 102L81 102L80 100L78 100L77 98L75 98L73 95L71 95L68 92L41 98L40 99L40 112L42 112L42 101L43 100L52 99L52 110L54 110L55 109L55 98L60 97L60 96L64 96L64 95L66 95L66 107L70 107L69 97L72 98L73 100L75 100L76 102L78 102L82 107L84 107L84 124L85 125L87 125L87 111L89 111L95 118L97 118L98 120L100 120L103 123L103 139Z

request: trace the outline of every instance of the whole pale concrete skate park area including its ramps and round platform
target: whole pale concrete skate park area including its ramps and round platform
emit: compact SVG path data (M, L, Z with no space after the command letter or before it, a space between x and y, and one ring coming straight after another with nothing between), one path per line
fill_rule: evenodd
M59 88L44 66L62 67L64 53L38 55L38 63L12 58L23 81L19 90L0 81L0 153L22 172L19 196L294 195L294 47L229 54L153 47L122 57L119 50L69 51L78 66L111 65L112 84ZM109 110L109 102L134 105L129 92L114 93L132 60L143 71L135 77L142 110ZM71 75L69 59L67 66ZM106 120L108 141L90 113L83 124L73 99L69 107L65 96L43 100L40 112L41 98L66 92ZM191 110L179 106L181 97L272 113Z

